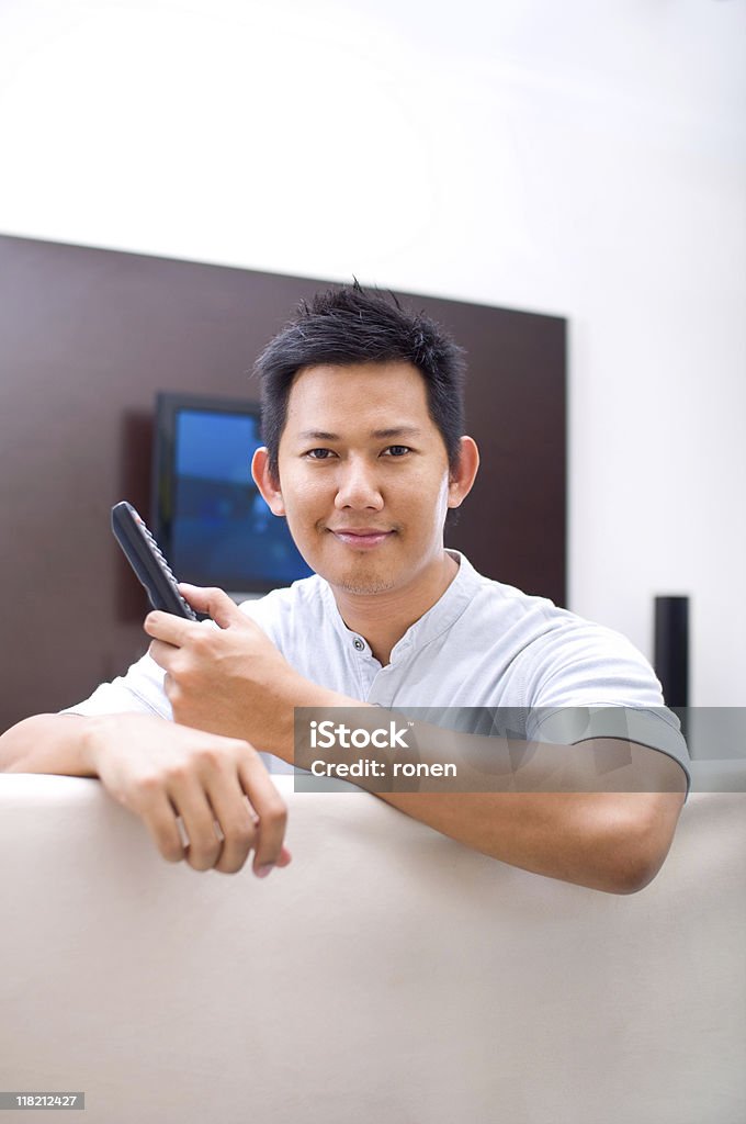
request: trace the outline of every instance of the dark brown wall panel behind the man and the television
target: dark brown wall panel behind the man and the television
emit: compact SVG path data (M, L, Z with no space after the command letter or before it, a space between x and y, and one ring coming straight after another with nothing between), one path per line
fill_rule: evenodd
M83 698L146 647L109 531L147 517L156 390L255 397L254 357L326 282L0 237L0 729ZM564 604L565 321L407 297L466 347L477 569Z

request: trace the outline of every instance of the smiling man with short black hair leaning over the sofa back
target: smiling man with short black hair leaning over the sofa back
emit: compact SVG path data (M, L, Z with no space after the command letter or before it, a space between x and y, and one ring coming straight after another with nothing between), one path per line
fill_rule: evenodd
M372 729L381 707L425 707L467 716L457 732L412 728L420 761L462 752L473 790L390 786L381 799L526 870L610 892L647 885L684 800L685 746L624 637L444 549L479 466L460 350L355 284L304 306L257 370L254 479L315 577L240 609L182 587L218 627L151 613L148 655L69 713L8 731L0 765L98 776L164 858L234 872L253 852L263 877L290 854L260 752L293 762L295 708L355 707ZM591 708L580 725L574 707ZM615 707L646 715L639 740ZM494 719L503 708L525 716L525 741ZM485 714L497 726L480 726Z

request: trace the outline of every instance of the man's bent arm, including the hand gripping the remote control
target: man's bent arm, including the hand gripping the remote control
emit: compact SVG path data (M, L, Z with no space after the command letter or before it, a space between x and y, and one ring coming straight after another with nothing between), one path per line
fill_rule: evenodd
M379 708L317 687L295 672L226 595L190 588L189 596L219 629L162 613L149 614L145 623L154 637L151 653L166 671L165 689L176 720L240 734L290 763L295 760L295 707L355 707L361 716L371 713L372 726L380 724ZM416 726L420 760L443 760L438 747L454 735ZM472 746L484 741L467 734L457 737ZM494 763L490 791L464 791L462 786L454 792L377 795L452 839L516 867L616 894L647 885L667 854L683 804L685 778L675 761L646 746L620 744L620 756L630 759L630 787L639 789L642 769L647 790L622 790L625 773L619 770L616 791L593 791L589 762L594 743L539 744L533 747L525 774L524 787L534 790L516 791L515 745L504 738L489 741ZM547 777L553 791L540 790ZM355 783L375 791L373 781L355 779Z

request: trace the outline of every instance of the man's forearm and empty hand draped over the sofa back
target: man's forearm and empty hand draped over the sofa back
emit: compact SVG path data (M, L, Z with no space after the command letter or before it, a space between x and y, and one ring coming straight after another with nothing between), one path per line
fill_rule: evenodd
M0 737L0 770L100 778L164 859L194 870L235 873L252 851L260 877L290 862L284 803L240 738L146 715L36 715Z

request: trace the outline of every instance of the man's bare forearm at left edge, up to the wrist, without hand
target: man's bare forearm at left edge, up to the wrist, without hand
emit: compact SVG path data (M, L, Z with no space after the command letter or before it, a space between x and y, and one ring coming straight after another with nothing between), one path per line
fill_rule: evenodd
M0 772L95 777L90 758L92 718L37 714L0 736Z

